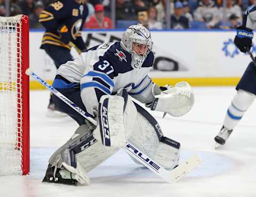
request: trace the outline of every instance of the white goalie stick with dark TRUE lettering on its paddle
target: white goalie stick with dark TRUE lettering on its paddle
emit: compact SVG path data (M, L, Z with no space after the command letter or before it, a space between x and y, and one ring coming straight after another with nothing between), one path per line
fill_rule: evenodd
M47 84L42 78L37 76L33 71L30 69L26 70L26 74L32 76L36 79L39 83L41 83L44 87L49 89L54 95L59 97L63 102L68 104L71 108L76 110L81 116L85 119L89 120L93 125L97 126L98 122L95 121L93 118L90 117L90 114L83 111L79 106L75 103L70 101L66 96L61 94L57 89L52 87L51 85ZM181 163L178 167L172 169L171 171L164 169L161 165L155 162L153 159L149 158L147 154L140 151L137 147L132 145L129 142L126 142L124 150L129 153L132 157L137 159L142 165L146 166L148 169L153 171L158 176L161 176L166 182L173 183L177 182L179 179L190 173L194 168L196 168L199 163L201 163L201 159L197 155L193 155L188 158L185 162Z

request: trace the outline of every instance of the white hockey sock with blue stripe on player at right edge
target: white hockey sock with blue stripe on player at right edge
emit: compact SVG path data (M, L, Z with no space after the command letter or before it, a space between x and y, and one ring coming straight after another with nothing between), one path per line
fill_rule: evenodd
M229 105L223 125L229 130L234 129L254 99L254 94L238 89Z

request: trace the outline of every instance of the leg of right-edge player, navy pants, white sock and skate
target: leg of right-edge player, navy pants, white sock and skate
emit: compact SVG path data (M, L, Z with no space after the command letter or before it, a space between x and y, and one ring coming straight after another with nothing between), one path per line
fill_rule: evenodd
M256 94L256 68L251 62L236 86L237 93L227 110L223 126L214 138L221 145L225 144L233 129L249 109Z

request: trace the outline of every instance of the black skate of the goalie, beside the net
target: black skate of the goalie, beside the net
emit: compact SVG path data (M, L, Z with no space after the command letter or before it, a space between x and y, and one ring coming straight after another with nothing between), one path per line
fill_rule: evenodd
M54 172L55 170L55 172ZM60 168L55 169L55 166L48 165L43 182L47 183L61 183L66 185L76 185L77 180L72 179L70 171Z

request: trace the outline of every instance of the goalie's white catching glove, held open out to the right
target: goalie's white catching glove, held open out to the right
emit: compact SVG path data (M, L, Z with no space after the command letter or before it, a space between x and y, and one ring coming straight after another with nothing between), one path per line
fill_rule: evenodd
M159 95L151 105L151 110L169 113L173 117L183 116L191 110L194 105L194 93L186 81L167 88Z

